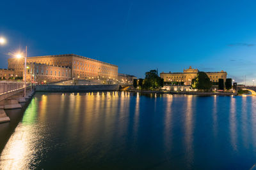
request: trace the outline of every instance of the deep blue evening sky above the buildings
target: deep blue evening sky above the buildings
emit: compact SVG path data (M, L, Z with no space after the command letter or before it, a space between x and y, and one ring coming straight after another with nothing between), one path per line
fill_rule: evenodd
M256 1L1 1L0 67L29 56L76 53L144 77L150 69L227 71L256 79Z

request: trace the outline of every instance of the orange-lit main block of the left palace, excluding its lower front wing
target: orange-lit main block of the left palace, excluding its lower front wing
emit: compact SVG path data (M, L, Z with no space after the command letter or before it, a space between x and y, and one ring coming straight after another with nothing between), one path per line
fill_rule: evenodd
M118 78L118 66L76 54L28 57L27 62L44 64L44 67L69 67L71 73L70 79L86 80ZM14 69L19 76L22 76L24 59L8 59L8 68Z

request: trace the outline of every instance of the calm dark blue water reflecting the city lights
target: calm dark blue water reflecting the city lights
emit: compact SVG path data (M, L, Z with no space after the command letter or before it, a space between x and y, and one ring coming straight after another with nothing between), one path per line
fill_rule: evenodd
M12 136L0 139L10 137L0 169L250 169L256 163L256 97L37 93L15 121Z

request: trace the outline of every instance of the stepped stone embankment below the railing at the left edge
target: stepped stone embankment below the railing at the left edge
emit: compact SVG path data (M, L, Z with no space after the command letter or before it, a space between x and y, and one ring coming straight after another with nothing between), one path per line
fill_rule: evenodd
M23 97L23 94L22 91L0 101L0 123L10 122L10 118L6 115L5 110L22 108L21 103L29 102L35 94L35 90L28 90L25 97Z

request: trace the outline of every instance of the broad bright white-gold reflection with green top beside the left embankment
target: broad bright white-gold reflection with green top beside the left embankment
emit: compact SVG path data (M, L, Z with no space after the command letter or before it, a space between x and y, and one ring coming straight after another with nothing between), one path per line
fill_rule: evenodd
M15 132L4 146L0 155L0 169L31 169L31 162L35 162L36 152L40 152L42 142L40 130L35 120L37 119L38 101L34 97L24 113Z

